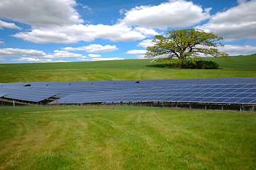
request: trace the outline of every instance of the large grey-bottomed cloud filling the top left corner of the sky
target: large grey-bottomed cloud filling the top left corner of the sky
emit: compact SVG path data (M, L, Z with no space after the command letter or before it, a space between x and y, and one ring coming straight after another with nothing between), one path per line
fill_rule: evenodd
M0 18L49 28L83 23L74 0L1 0Z

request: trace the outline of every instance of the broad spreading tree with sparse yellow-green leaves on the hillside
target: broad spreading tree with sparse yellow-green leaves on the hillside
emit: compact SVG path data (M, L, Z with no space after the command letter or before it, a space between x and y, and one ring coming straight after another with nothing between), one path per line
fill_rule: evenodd
M225 52L218 52L216 47L224 46L220 42L222 37L214 33L206 33L199 29L170 30L165 36L155 35L152 40L153 46L147 47L146 58L163 57L167 61L177 58L179 68L182 68L184 62L190 60L202 60L200 53L213 57L224 57L230 60Z

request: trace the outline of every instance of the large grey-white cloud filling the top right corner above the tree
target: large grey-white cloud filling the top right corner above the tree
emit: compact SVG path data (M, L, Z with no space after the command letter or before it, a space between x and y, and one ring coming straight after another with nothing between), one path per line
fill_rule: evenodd
M208 23L196 28L213 31L226 41L256 39L256 1L238 2L238 6L216 13Z

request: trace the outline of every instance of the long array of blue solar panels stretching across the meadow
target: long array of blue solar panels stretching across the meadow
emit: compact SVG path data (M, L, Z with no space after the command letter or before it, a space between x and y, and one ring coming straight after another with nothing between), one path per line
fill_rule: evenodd
M0 84L4 98L51 103L172 101L256 103L256 78L69 81Z

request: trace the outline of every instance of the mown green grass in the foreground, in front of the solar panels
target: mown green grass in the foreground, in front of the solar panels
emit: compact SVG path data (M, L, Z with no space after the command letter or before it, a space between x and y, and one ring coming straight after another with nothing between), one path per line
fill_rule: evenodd
M256 169L256 115L2 106L0 169Z

